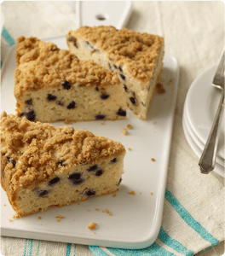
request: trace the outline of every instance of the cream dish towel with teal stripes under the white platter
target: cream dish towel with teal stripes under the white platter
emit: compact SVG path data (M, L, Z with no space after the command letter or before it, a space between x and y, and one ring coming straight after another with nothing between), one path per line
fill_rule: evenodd
M3 26L2 60L16 37L17 32ZM159 236L150 247L129 250L2 236L1 253L3 256L191 256L204 252L224 241L225 188L222 177L214 172L200 174L197 163L184 137L182 118L176 114L163 220Z

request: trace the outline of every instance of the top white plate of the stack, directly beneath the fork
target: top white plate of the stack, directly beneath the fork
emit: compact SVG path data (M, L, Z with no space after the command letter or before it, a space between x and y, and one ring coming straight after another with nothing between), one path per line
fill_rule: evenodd
M209 67L193 81L186 97L187 120L194 134L199 140L206 143L211 131L211 125L216 116L222 91L212 87L212 79L217 65ZM224 115L220 130L217 154L224 159Z

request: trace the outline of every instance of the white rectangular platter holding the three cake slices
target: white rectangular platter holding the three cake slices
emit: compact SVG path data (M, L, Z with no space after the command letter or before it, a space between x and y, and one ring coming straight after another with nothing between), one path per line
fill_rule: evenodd
M66 37L49 40L58 47L67 49ZM13 48L3 64L1 111L7 113L15 113L14 54ZM127 119L124 120L72 124L75 129L87 129L95 135L109 137L124 144L127 154L124 159L123 181L117 196L90 198L79 205L74 203L71 206L50 208L48 211L9 222L15 212L1 188L1 236L130 249L148 247L155 241L162 220L176 104L179 66L175 57L167 54L164 56L162 74L164 82L161 83L164 84L165 93L155 94L153 97L147 121L137 119L135 114L128 112ZM124 136L121 131L128 124L133 125L133 129ZM57 122L54 125L64 123ZM129 194L132 190L135 195ZM96 208L99 211L95 211ZM101 212L105 209L112 212L112 216ZM55 217L58 215L65 218L57 222ZM38 219L39 216L41 219ZM91 221L98 224L97 230L86 228Z

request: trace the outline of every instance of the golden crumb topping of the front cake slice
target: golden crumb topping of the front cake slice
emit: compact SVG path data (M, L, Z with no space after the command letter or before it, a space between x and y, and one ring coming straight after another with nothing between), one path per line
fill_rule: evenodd
M66 172L72 166L95 164L99 159L125 151L121 143L71 126L55 128L5 112L1 121L2 167L11 194ZM60 161L63 165L58 164Z

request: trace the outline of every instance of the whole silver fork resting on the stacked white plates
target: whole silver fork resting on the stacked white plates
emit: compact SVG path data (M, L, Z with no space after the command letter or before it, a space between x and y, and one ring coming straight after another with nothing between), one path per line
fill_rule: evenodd
M225 104L225 47L222 50L221 59L216 70L215 77L212 81L212 86L222 90L219 107L216 112L216 117L211 127L211 132L205 143L205 148L199 160L199 168L201 173L208 174L213 171L216 164L216 152L219 141L219 131L222 120L222 113Z

